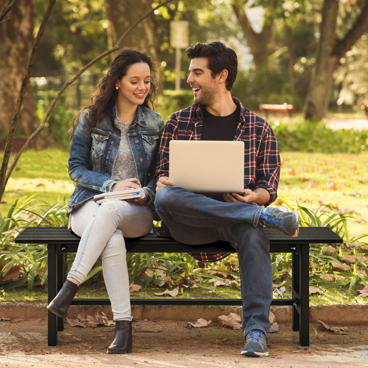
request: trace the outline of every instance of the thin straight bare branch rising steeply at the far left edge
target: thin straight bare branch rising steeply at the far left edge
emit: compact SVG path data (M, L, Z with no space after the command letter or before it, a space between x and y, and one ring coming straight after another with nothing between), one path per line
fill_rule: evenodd
M17 123L18 123L19 111L22 107L24 95L26 93L26 86L29 82L29 77L30 77L30 74L31 74L31 71L32 71L34 58L36 56L36 53L37 53L38 47L40 45L42 35L44 33L47 21L50 17L50 14L51 14L51 11L53 9L53 5L54 5L55 1L56 0L50 0L49 1L49 5L46 9L46 13L44 15L44 18L42 19L42 23L40 25L40 28L38 29L37 36L36 36L36 38L33 42L32 50L31 50L31 53L30 53L29 58L28 58L26 71L25 71L25 74L23 76L21 88L19 90L18 100L17 100L17 102L15 104L15 107L14 107L14 112L13 112L13 116L12 116L12 119L11 119L11 122L10 122L8 135L6 136L4 156L3 156L2 162L1 162L0 198L2 197L2 194L4 193L6 183L8 182L8 179L9 179L9 176L10 176L10 175L6 175L6 177L5 177L5 173L7 174L7 166L8 166L8 162L9 162L9 158L10 158L10 154L11 154L11 148L12 148L12 145L13 145L13 137L14 137L15 127L17 126Z

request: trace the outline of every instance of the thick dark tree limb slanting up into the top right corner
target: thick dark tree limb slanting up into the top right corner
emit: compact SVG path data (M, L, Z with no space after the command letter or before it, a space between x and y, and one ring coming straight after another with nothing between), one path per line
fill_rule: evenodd
M368 1L362 9L362 13L356 20L354 26L345 35L344 39L339 41L334 49L334 54L339 58L345 55L353 45L358 41L364 32L368 29Z

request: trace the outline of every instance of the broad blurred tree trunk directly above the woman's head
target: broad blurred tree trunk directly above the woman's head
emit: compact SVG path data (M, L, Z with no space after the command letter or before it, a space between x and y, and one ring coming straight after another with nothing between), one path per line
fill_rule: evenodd
M105 7L109 21L108 44L111 48L134 21L152 8L152 0L105 0ZM155 34L154 14L151 14L128 34L121 47L147 52L157 62Z

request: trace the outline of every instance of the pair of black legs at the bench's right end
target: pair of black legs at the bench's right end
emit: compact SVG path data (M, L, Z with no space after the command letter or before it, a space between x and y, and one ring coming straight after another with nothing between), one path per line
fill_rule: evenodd
M299 331L299 343L309 346L309 246L297 245L292 254L292 329Z

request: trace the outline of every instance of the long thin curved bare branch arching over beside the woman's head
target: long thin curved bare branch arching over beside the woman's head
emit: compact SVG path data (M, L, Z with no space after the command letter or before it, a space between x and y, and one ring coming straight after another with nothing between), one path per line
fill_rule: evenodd
M53 109L53 106L56 104L57 100L60 98L60 96L62 95L62 93L65 91L65 89L72 84L76 79L78 79L78 77L85 72L91 65L95 64L97 61L101 60L102 58L104 58L105 56L109 55L110 53L113 53L114 51L119 50L119 46L121 44L121 42L123 41L123 39L127 36L127 34L134 28L136 27L139 23L141 23L145 18L147 18L150 14L152 14L155 10L157 10L158 8L160 8L161 6L167 4L168 2L170 2L172 0L164 0L162 2L160 2L155 8L149 10L147 13L145 13L144 15L142 15L137 21L135 21L131 26L129 26L129 28L122 34L122 36L120 37L120 39L118 40L118 42L115 44L114 47L112 47L111 49L105 51L104 53L101 53L100 55L98 55L97 57L95 57L93 60L91 60L88 64L86 64L85 66L83 66L79 72L72 78L67 80L64 85L61 87L61 89L59 90L59 92L56 94L55 98L53 99L53 101L51 102L49 108L47 109L45 116L43 117L40 125L37 127L37 129L35 131L33 131L33 133L27 138L25 144L22 146L22 148L19 150L19 152L15 155L11 165L8 168L8 171L6 173L6 179L5 179L5 185L7 183L7 181L10 178L10 175L15 167L15 165L17 164L19 158L21 157L23 151L26 149L26 147L28 146L28 144L37 136L37 134L42 131L45 127L45 123L47 121L47 119L50 116L51 110ZM5 187L4 185L4 187Z

